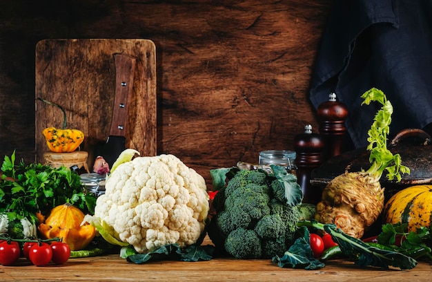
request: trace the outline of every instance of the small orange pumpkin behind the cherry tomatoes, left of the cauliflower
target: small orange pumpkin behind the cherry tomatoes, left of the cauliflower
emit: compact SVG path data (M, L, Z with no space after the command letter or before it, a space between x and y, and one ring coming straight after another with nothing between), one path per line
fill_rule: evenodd
M45 223L39 224L39 234L46 239L61 238L72 251L83 250L96 235L95 227L88 223L81 225L83 220L81 209L68 203L59 205L51 210Z

